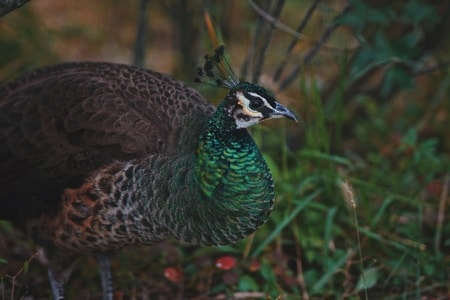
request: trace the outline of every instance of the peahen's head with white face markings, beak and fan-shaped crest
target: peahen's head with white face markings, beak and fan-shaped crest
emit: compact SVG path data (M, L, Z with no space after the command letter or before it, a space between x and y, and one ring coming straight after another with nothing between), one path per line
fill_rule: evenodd
M292 111L275 100L265 88L249 82L240 82L234 75L219 46L213 55L205 55L203 67L197 68L196 81L228 88L224 105L236 128L247 128L264 120L286 117L298 123Z

